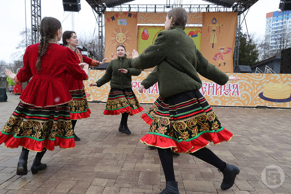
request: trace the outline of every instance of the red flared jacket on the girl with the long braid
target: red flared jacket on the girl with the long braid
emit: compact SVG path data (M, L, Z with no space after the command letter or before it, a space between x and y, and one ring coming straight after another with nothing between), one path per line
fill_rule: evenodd
M19 97L26 104L48 107L67 103L72 96L65 82L66 74L78 80L88 79L78 65L75 53L59 44L49 44L38 72L35 68L37 59L38 44L28 46L23 56L23 68L15 76L19 82L26 82L32 77Z

